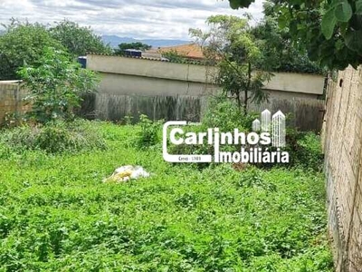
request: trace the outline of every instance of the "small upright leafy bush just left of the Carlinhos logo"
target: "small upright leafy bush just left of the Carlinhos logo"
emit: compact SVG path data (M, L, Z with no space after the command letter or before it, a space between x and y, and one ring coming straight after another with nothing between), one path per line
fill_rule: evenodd
M141 130L138 132L137 146L140 149L148 148L160 142L161 124L163 121L151 121L148 116L141 114L138 125Z

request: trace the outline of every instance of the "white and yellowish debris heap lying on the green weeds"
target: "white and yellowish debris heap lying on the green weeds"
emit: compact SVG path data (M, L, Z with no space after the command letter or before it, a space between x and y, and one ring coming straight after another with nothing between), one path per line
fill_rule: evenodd
M138 180L148 178L149 173L141 166L126 165L114 170L110 178L103 180L106 183L119 183L128 180Z

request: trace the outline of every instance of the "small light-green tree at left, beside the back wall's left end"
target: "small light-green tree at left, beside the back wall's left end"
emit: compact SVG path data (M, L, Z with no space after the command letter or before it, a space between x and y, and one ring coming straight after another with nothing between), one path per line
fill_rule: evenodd
M30 115L42 123L73 120L81 94L95 92L98 82L95 73L81 69L68 53L52 47L44 48L38 65L25 65L18 73L30 92L25 98L32 103Z

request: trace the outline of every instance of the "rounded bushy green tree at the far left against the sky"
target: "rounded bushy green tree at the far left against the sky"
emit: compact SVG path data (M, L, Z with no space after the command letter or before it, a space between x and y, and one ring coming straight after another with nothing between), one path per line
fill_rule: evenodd
M46 46L63 49L62 44L54 40L42 24L20 23L12 19L11 24L3 26L5 34L0 36L0 80L19 79L17 70L24 63L38 64Z

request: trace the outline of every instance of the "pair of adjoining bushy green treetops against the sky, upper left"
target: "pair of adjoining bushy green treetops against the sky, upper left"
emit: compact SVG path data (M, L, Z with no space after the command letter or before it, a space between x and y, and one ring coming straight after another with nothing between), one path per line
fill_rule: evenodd
M3 25L0 35L0 81L20 79L18 71L24 66L37 67L47 47L63 51L75 60L79 55L111 53L99 36L88 27L62 21L49 28L43 24L30 24L11 19Z

